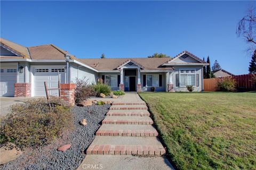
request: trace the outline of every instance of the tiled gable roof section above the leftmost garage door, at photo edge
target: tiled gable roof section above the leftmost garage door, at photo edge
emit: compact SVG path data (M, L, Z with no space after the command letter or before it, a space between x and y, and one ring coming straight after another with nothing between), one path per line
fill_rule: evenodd
M17 55L14 57L13 56L1 56L1 58L30 58L27 47L21 46L19 44L13 43L13 42L3 39L3 38L1 38L0 41L1 41L1 46L3 46L7 50L10 50L10 52Z

